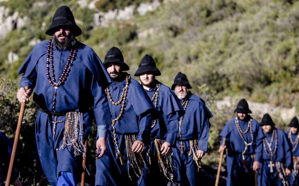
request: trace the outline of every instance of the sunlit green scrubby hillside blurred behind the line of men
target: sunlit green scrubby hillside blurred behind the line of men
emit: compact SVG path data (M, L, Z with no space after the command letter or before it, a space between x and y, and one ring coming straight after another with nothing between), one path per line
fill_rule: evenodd
M191 92L202 97L214 115L210 119L209 153L202 159L205 164L218 162L219 132L234 117L235 106L217 109L217 100L229 96L298 110L299 1L155 1L160 6L145 15L139 15L136 10L142 3L152 3L150 0L99 0L93 1L93 9L75 0L0 2L0 6L8 8L7 16L17 11L21 18L28 17L25 26L12 30L0 40L0 130L9 137L14 136L20 107L16 100L20 75L16 71L34 47L28 43L50 38L45 30L61 5L71 8L83 30L77 39L93 48L102 61L106 52L117 46L132 75L145 54L154 58L162 74L156 78L165 85L171 86L178 72L187 74L193 87ZM84 2L91 3L91 0ZM95 26L95 13L123 10L128 6L135 6L134 18L110 20L108 25ZM16 53L18 60L8 62L9 52ZM35 143L36 111L30 98L21 130L23 149L28 139L30 145ZM257 115L253 117L261 119ZM277 126L286 129L287 124L275 117L274 121L281 123ZM94 137L92 131L90 138ZM94 146L94 140L89 140L90 154ZM28 146L35 151L33 147ZM27 153L33 154L33 159L36 157L29 150ZM36 160L32 161L35 167L20 177L24 182L42 185L45 178L39 173ZM92 161L90 172L94 168Z

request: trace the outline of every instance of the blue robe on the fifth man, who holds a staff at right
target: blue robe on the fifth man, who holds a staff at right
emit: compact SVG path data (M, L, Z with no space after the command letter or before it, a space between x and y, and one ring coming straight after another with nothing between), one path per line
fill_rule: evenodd
M250 117L249 115L247 117ZM242 131L245 131L248 126L248 121L242 121L238 118L239 125ZM252 171L253 157L255 154L255 161L260 162L262 156L262 138L265 137L260 124L252 118L252 133L254 142L248 146L244 158L247 160L248 171L245 171L242 164L242 152L245 149L245 143L243 142L237 126L235 118L232 118L222 129L220 136L222 139L225 137L225 145L227 148L226 165L227 165L227 180L226 185L254 185L254 171ZM246 143L251 142L250 131L246 134L242 134Z

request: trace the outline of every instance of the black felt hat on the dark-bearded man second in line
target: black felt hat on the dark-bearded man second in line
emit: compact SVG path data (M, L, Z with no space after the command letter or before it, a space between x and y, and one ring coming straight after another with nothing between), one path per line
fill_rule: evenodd
M108 50L103 65L106 67L112 62L121 65L122 71L128 71L130 69L129 66L123 61L123 54L115 46Z

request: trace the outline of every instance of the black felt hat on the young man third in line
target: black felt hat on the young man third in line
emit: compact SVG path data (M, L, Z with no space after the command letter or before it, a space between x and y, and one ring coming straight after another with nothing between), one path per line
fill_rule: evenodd
M135 72L134 76L139 76L144 72L153 72L155 76L160 76L161 72L156 67L156 63L152 56L146 54L140 61L137 71Z

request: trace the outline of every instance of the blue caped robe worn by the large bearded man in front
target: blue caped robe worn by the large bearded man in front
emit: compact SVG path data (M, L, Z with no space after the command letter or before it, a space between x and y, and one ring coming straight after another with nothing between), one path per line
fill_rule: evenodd
M49 41L37 44L22 64L18 73L23 73L20 87L34 89L33 101L42 109L52 112L54 87L46 74L47 47ZM70 50L53 47L54 74L58 82ZM88 136L94 118L97 125L111 124L110 110L104 88L110 78L101 60L88 46L77 42L77 56L70 68L65 84L57 88L56 111L65 113L78 111L83 113L84 137ZM51 71L50 71L51 74ZM109 81L108 81L109 79ZM62 145L65 116L58 116L63 122L56 126L53 139L55 116L39 111L36 118L36 143L42 168L51 185L57 185L60 172L77 173L82 167L82 157L74 157L74 148L56 150Z

